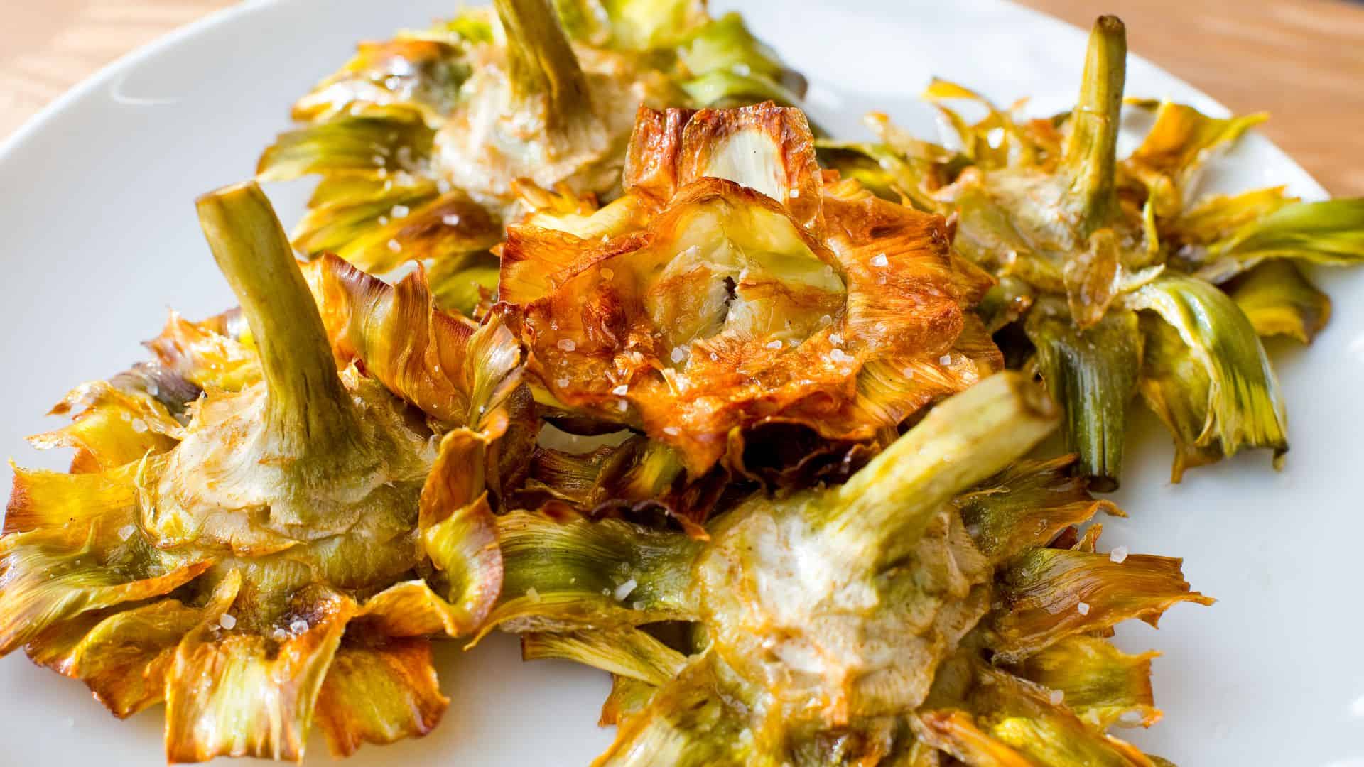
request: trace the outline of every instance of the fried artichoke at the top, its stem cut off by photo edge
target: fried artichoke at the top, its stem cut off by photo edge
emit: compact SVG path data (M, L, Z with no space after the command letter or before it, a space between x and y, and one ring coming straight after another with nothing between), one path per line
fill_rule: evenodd
M360 45L295 105L303 126L258 175L322 175L299 250L372 273L438 263L438 298L468 310L457 293L491 277L479 267L521 212L518 179L614 197L638 105L792 102L803 87L738 15L698 0L498 0Z

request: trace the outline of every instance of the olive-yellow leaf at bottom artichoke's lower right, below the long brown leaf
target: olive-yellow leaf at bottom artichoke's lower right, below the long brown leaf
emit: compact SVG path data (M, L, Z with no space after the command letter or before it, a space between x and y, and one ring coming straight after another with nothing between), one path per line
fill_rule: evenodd
M1128 655L1094 636L1068 636L1027 658L1019 676L1060 691L1065 707L1088 725L1151 726L1161 718L1151 696L1155 652Z

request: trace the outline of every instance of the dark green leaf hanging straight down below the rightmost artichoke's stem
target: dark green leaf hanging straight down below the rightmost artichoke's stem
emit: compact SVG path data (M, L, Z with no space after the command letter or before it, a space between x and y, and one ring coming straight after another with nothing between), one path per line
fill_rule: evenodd
M1127 404L1142 366L1138 315L1112 311L1080 330L1048 308L1034 307L1024 330L1052 397L1065 408L1065 446L1080 456L1079 469L1094 489L1113 490L1123 475Z

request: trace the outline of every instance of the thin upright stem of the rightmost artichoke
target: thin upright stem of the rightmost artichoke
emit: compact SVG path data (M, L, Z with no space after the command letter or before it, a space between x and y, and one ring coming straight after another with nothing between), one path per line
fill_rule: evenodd
M1125 81L1127 27L1117 16L1099 16L1090 31L1080 98L1061 160L1071 177L1069 205L1082 240L1102 228L1117 206L1117 128Z

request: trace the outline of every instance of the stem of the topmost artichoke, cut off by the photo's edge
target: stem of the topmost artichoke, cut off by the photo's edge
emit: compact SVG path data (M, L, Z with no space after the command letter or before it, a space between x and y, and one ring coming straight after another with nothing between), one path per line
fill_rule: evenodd
M574 136L599 128L587 75L550 0L496 0L495 7L507 37L513 98L543 96L551 134Z

